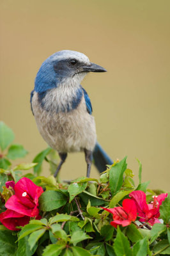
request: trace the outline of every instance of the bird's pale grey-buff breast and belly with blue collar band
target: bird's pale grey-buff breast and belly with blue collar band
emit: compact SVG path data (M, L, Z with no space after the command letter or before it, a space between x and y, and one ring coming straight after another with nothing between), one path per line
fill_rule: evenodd
M89 115L84 92L77 88L53 88L43 95L33 93L32 108L43 139L58 152L93 150L95 120Z

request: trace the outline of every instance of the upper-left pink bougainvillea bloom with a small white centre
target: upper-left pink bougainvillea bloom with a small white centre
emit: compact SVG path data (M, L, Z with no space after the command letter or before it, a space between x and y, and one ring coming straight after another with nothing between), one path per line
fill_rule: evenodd
M42 187L36 186L26 177L20 179L14 186L15 195L5 204L7 209L30 217L38 216L38 198L43 193Z

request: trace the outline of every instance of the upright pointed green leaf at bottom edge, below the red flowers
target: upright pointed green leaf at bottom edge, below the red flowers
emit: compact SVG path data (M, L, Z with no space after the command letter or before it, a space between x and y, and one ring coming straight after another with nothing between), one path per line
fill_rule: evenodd
M121 232L120 227L118 226L118 232L116 235L116 239L114 239L114 252L117 256L132 256L132 250L130 249L130 243L125 237L125 235ZM143 255L144 256L144 255Z

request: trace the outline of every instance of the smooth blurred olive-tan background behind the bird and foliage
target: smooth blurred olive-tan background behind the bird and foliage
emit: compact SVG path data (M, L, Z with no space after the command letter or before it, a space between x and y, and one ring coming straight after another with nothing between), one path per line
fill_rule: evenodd
M62 49L84 52L107 73L89 74L98 141L112 159L128 156L135 179L169 189L170 2L1 0L1 120L32 161L47 144L29 95L38 68ZM20 160L19 160L20 161ZM48 175L47 167L43 170ZM62 179L86 174L84 154L69 154ZM97 177L93 167L91 176Z

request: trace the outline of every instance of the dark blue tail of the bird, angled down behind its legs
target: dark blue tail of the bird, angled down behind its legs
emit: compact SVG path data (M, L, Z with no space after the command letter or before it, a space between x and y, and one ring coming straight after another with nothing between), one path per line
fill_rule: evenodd
M93 160L99 172L104 172L106 170L106 164L113 164L112 159L107 156L107 153L98 144L98 142L93 150Z

